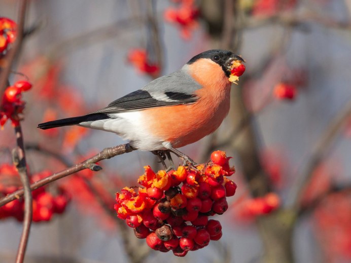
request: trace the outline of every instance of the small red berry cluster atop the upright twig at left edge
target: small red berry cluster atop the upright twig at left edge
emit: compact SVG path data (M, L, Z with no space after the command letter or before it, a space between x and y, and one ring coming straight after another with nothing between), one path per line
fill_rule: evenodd
M0 109L0 126L4 127L8 119L14 126L20 121L19 114L24 109L25 102L22 100L22 92L30 90L32 85L27 81L17 81L13 86L5 90L2 108Z

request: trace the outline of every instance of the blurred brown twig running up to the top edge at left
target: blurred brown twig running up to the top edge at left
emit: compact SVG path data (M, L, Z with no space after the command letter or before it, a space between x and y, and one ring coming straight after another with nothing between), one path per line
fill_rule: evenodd
M0 68L0 98L3 97L5 89L7 88L11 66L18 55L23 40L23 27L25 20L25 13L27 8L27 0L21 0L18 7L18 23L17 23L17 36L16 41L5 56L5 67ZM1 102L0 102L1 103Z

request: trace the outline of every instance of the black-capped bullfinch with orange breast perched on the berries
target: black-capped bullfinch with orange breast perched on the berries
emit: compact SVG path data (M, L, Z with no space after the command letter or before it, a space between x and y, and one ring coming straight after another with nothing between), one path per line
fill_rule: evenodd
M167 157L171 166L170 152L196 165L177 148L213 133L228 115L232 84L229 76L234 61L244 62L228 50L204 51L179 70L107 107L84 116L41 123L38 128L78 125L113 132L129 141L133 149L151 151L162 160Z

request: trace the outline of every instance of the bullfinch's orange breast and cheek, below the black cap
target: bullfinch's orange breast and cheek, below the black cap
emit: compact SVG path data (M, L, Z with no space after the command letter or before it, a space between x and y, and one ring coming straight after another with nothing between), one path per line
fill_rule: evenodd
M202 85L196 92L199 99L189 105L143 111L145 128L173 147L185 146L214 132L230 107L231 83L221 66L208 59L199 59L187 67L188 73Z

